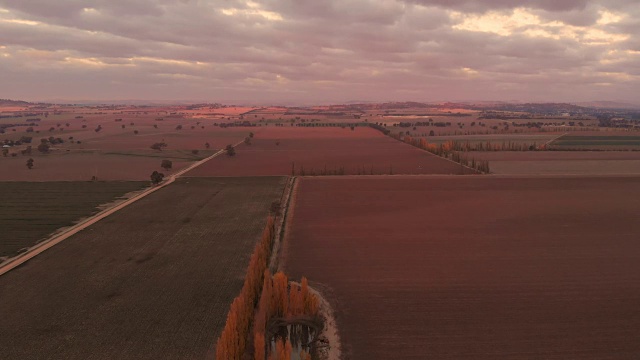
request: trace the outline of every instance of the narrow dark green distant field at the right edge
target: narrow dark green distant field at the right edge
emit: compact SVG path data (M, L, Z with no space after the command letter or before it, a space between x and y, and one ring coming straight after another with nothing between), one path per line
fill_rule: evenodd
M565 135L555 140L551 145L559 149L640 150L640 135L608 135L606 133L600 135Z

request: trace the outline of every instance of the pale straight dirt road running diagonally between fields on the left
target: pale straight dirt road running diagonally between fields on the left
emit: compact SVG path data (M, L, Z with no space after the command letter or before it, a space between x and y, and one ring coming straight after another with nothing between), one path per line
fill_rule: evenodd
M240 145L242 143L242 141L238 142L237 144L233 145L234 147ZM87 217L83 220L81 220L79 223L72 225L70 227L68 227L66 230L54 234L53 236L49 237L48 239L45 239L44 241L41 241L40 243L32 246L31 248L29 248L29 250L27 250L26 252L18 255L18 256L14 256L12 258L7 259L5 262L0 264L0 276L8 273L9 271L15 269L16 267L24 264L25 262L33 259L34 257L40 255L41 253L43 253L44 251L52 248L53 246L61 243L62 241L66 240L67 238L71 237L72 235L77 234L78 232L86 229L87 227L97 223L98 221L106 218L107 216L117 212L118 210L124 209L125 207L135 203L136 201L145 198L146 196L172 184L174 181L176 181L176 179L180 176L182 176L182 174L186 173L187 171L193 170L194 168L204 164L205 162L219 156L220 154L224 154L225 153L225 149L220 149L219 151L217 151L216 153L214 153L213 155L202 159L198 162L195 162L193 164L191 164L190 166L187 166L186 168L176 172L175 174L172 174L169 177L169 180L164 181L160 184L158 184L157 186L152 186L147 188L146 190L143 190L141 193L137 194L136 196L129 198L119 204L115 204L114 206L111 206L107 209L104 209L100 212L98 212L97 214Z

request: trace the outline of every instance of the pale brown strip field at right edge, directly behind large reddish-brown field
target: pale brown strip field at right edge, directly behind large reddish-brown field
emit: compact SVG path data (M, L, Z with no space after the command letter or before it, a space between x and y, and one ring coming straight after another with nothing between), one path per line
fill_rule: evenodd
M488 160L495 174L640 174L640 152L637 151L501 151L473 152L472 155Z

